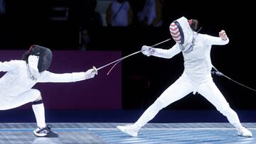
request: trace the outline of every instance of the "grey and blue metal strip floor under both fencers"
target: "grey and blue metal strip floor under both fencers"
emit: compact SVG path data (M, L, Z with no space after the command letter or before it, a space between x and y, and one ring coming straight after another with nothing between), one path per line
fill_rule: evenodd
M256 137L238 136L230 123L148 123L137 137L130 137L116 126L127 123L49 123L59 138L33 135L36 123L0 123L0 143L14 144L185 144L185 143L256 143ZM242 123L256 135L256 123Z

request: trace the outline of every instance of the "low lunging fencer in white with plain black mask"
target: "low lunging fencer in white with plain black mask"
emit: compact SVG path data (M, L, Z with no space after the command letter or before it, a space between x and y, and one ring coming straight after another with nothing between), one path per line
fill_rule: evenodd
M33 134L38 137L58 137L58 133L46 125L45 109L41 92L32 87L38 82L78 82L95 77L93 67L86 72L55 74L47 71L52 61L52 52L40 45L32 45L23 60L0 62L0 71L6 72L0 79L0 110L14 109L31 102L38 128Z

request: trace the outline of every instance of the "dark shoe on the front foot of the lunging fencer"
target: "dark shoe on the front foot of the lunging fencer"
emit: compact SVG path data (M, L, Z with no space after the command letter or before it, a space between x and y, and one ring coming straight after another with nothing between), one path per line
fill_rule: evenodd
M58 138L58 133L51 131L51 127L51 125L47 125L45 128L36 128L36 130L33 131L33 134L38 137Z

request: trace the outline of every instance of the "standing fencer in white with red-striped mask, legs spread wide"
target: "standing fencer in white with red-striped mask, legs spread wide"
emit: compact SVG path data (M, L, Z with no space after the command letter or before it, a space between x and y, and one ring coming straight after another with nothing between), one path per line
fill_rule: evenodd
M230 108L211 77L210 71L213 67L210 60L211 45L228 44L229 39L225 31L220 31L219 37L197 33L198 21L196 19L188 20L185 17L172 22L169 30L172 38L176 41L172 48L165 50L144 45L142 52L146 56L153 55L163 58L171 58L182 52L183 74L154 101L154 104L144 111L135 123L117 126L117 128L128 135L137 136L139 129L154 118L161 109L191 92L193 94L198 92L228 118L228 121L237 128L238 135L252 137L252 133L242 126L238 114Z

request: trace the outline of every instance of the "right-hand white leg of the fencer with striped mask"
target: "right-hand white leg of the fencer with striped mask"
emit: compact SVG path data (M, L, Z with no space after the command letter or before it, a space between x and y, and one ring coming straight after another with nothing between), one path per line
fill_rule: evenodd
M238 129L238 134L242 136L252 136L252 133L242 126L238 114L230 108L223 94L213 81L208 81L199 87L198 92L210 101L215 108L228 118L228 121ZM242 134L243 133L243 134Z

